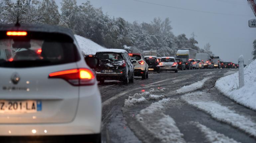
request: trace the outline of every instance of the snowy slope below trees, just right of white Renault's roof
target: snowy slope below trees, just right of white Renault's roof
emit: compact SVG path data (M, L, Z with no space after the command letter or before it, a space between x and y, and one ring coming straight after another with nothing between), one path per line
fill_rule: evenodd
M94 43L87 38L79 35L74 36L83 54L95 54L98 50L105 49L104 47L98 45L97 43Z

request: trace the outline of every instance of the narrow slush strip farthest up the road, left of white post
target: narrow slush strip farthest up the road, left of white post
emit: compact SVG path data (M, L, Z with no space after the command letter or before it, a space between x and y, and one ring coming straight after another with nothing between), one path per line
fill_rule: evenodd
M176 91L177 91L177 93L179 93L179 94L188 93L188 92L191 92L191 91L195 91L195 90L197 90L197 89L202 88L203 85L204 85L204 83L205 83L207 80L209 80L210 78L211 78L211 77L204 78L204 79L201 80L201 81L198 81L198 82L193 83L193 84L188 85L188 86L184 86L184 87L182 87L182 88L180 88L180 89L178 89L178 90L176 90Z

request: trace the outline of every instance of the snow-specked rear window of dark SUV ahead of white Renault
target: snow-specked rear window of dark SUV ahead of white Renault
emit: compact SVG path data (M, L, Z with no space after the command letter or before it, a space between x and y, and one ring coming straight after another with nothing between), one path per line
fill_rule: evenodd
M122 61L123 57L118 53L96 53L95 57L99 60L109 60L109 61Z

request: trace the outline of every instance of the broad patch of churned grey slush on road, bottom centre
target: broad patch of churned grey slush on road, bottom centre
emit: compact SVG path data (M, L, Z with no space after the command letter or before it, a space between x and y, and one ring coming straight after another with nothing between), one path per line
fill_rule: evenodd
M149 107L141 110L136 115L136 119L145 130L152 134L154 138L159 139L161 143L185 143L184 135L176 126L174 119L163 114L170 101L171 99L168 98L152 103Z

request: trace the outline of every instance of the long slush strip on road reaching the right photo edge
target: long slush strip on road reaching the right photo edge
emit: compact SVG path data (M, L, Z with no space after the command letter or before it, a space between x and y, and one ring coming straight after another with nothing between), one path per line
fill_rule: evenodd
M198 91L185 94L181 98L192 106L208 113L212 118L237 127L256 137L256 123L250 117L240 115L218 102L209 101L209 96L208 93Z

